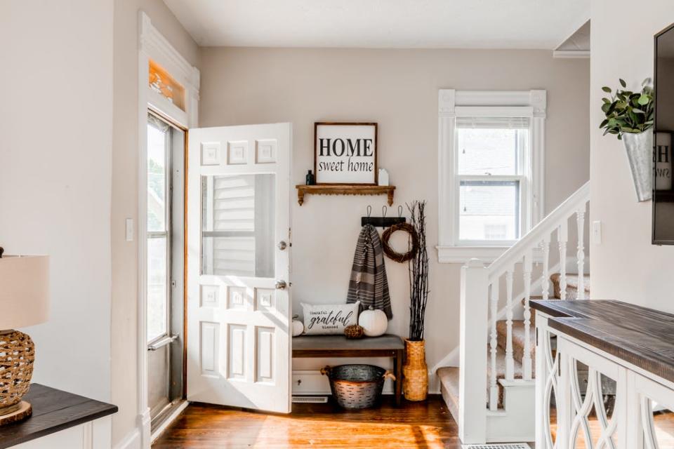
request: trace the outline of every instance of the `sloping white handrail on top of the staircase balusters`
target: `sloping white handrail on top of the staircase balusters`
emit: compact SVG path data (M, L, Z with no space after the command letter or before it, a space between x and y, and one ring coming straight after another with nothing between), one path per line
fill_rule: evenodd
M527 232L522 239L517 241L513 246L510 246L510 248L498 256L494 262L489 264L489 267L487 267L489 282L491 283L498 279L498 277L505 273L513 263L520 260L524 251L536 248L546 235L550 235L550 233L559 227L562 220L567 220L576 212L576 210L581 206L584 206L588 201L590 201L590 181L586 182L582 187L576 190L576 192L571 194L569 198L564 200L564 202L557 206L557 208L548 214L548 216L538 222L538 225Z

